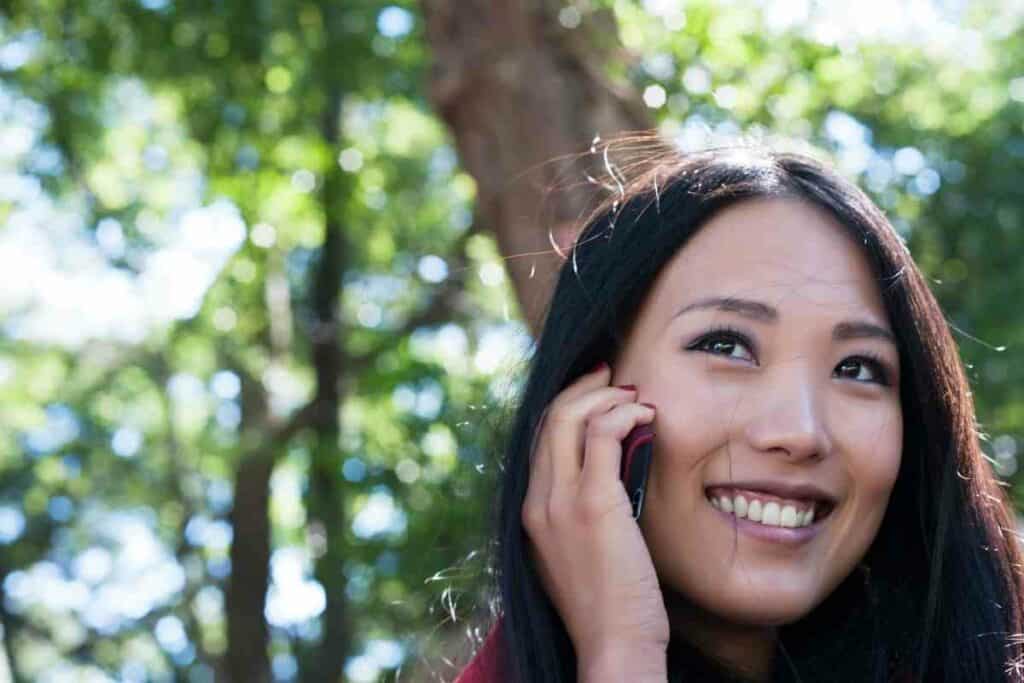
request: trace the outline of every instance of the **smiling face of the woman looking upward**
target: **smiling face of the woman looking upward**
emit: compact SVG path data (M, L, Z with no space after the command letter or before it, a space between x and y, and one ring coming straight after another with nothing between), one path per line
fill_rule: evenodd
M752 626L820 604L874 539L903 443L897 347L840 224L797 200L719 213L613 368L657 407L640 525L663 585Z

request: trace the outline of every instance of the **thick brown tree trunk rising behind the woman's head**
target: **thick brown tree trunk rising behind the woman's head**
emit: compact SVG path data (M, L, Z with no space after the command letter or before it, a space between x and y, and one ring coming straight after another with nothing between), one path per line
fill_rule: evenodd
M614 18L604 10L565 14L561 0L422 6L434 57L431 98L476 180L481 226L497 238L536 334L562 263L552 243L568 247L590 206L585 182L554 187L585 180L565 156L597 135L650 127L639 96L604 73L623 55Z

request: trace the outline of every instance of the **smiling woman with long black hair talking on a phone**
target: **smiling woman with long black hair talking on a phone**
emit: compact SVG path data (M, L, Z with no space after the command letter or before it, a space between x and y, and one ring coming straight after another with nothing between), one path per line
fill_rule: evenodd
M1013 518L888 220L801 156L640 156L558 280L459 681L1020 680Z

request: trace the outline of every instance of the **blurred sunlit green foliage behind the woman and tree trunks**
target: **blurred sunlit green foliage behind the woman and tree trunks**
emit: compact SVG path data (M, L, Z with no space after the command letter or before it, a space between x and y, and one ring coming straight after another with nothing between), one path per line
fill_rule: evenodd
M636 58L606 67L682 145L806 139L872 194L959 331L985 450L1012 478L1021 19L972 3L931 33L858 35L773 14L793 4L579 2L559 22L614 10ZM303 678L327 593L349 605L351 680L450 674L437 648L480 601L494 436L529 340L421 92L418 8L2 7L0 616L18 680L214 678L237 468L314 391L329 220L344 233L329 461L343 503L308 519L324 463L310 430L287 439L270 480L274 676ZM344 542L331 585L312 579L327 538Z

